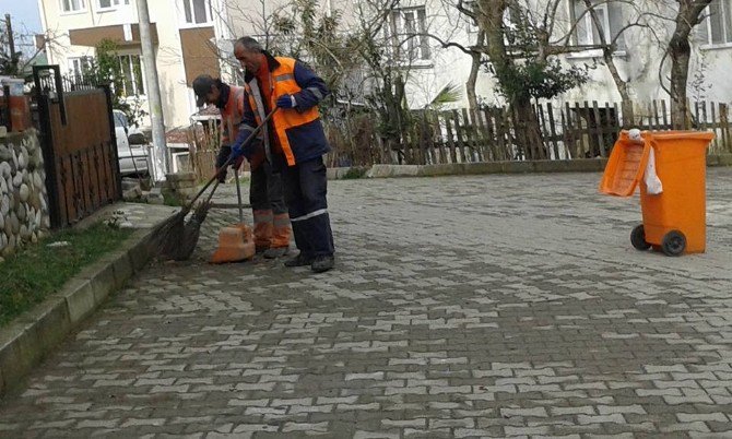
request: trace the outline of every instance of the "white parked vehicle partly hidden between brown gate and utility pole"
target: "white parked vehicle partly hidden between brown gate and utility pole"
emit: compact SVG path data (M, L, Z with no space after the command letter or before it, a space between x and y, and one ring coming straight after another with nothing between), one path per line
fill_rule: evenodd
M147 138L139 129L130 127L127 115L113 110L115 118L115 135L117 135L117 156L119 173L126 175L146 175L149 168Z

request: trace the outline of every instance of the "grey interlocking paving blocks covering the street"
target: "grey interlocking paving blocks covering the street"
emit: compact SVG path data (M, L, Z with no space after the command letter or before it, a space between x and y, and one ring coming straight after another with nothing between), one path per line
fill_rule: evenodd
M732 169L708 252L638 252L598 174L331 182L337 269L151 266L0 436L732 437ZM231 185L226 198L234 193ZM249 216L249 213L247 213Z

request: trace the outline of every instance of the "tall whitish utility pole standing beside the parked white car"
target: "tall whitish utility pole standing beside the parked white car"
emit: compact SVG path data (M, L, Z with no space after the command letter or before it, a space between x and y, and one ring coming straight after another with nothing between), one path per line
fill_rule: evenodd
M147 104L150 105L150 119L153 126L153 167L155 168L155 180L162 181L165 179L165 174L170 171L170 155L165 143L163 102L161 99L160 83L157 81L157 66L155 64L153 38L150 33L147 0L138 0L137 3L138 19L140 21L142 59L145 63L145 80L147 81Z

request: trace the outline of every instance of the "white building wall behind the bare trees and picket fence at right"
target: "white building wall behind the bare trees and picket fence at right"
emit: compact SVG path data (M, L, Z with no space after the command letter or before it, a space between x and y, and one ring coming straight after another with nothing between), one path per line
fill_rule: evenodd
M357 1L357 0L354 0ZM669 5L658 1L613 2L592 0L601 22L597 26L587 13L585 0L565 0L551 17L554 22L552 40L557 45L575 47L570 54L562 55L565 66L592 66L589 81L556 98L563 102L619 102L621 96L613 78L605 67L600 49L580 47L602 44L603 39L615 39L617 49L613 56L621 78L629 82L631 98L637 103L668 99L664 86L669 88L671 60L664 59L665 45L673 32L674 23L660 16L674 17ZM534 20L542 20L546 11L546 0L521 0L533 13ZM471 2L465 2L470 5ZM648 26L629 26L639 14ZM526 17L524 17L526 20ZM458 48L444 48L440 43L418 34L432 34L442 41L459 43L463 47L474 45L477 37L476 23L458 13L454 8L446 8L440 0L403 0L388 19L388 26L402 41L402 51L410 52L408 72L408 96L412 108L427 105L448 84L464 84L471 70L471 57ZM511 26L509 14L506 26ZM628 27L629 26L629 27ZM601 37L601 33L604 38ZM619 35L619 36L618 36ZM732 70L732 0L713 0L707 8L704 20L692 38L692 64L689 69L689 99L732 103L732 81L725 79ZM475 87L480 102L501 104L495 79L482 68ZM463 93L454 107L468 106Z

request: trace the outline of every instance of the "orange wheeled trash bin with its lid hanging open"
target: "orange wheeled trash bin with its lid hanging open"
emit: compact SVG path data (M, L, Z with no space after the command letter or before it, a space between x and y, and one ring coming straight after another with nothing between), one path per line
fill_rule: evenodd
M653 248L666 256L705 251L707 146L713 138L699 131L644 131L633 139L628 131L621 132L600 191L630 197L640 183L644 223L630 234L633 247ZM659 194L649 193L644 179L651 149L662 185Z

